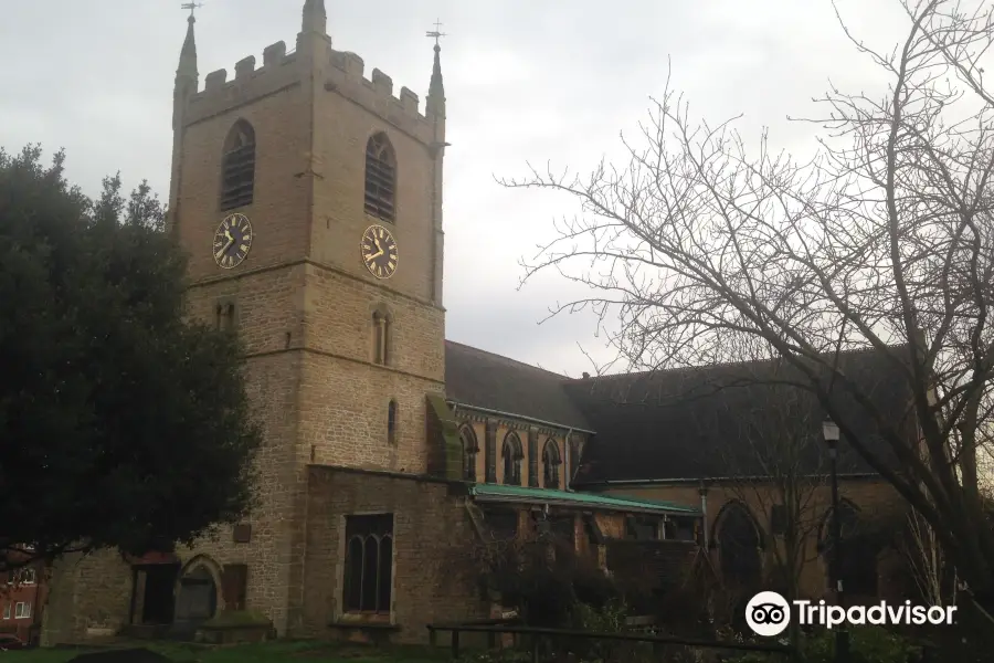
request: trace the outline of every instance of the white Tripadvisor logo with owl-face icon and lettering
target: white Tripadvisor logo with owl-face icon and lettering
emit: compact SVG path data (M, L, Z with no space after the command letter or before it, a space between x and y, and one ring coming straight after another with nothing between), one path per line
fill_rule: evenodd
M793 614L792 614L793 612ZM870 606L828 606L825 601L802 601L791 603L775 591L761 591L745 606L745 623L757 635L772 638L783 633L796 617L801 625L821 625L827 629L842 624L879 625L923 625L952 624L955 606L912 606L911 601L890 606L880 601Z

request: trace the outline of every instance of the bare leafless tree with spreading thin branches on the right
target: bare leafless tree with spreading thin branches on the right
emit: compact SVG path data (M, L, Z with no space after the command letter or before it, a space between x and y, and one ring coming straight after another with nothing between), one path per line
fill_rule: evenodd
M994 372L994 96L982 66L994 24L988 3L902 7L907 36L891 52L839 20L889 83L876 94L832 87L824 116L804 120L824 131L811 161L773 152L765 136L750 154L731 120L694 120L667 86L639 141L625 143L625 167L532 169L505 183L582 202L526 264L526 281L552 269L594 288L553 314L617 312L613 343L639 369L763 346L921 514L961 578L991 592L994 532L976 451ZM854 348L875 348L900 371L920 444L833 359ZM860 412L839 408L838 394ZM856 417L874 420L900 471L855 434Z

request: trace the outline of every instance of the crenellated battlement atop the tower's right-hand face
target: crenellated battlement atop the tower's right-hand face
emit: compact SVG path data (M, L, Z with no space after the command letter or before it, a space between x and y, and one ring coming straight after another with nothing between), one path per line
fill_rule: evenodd
M356 53L332 50L325 90L348 97L425 144L433 143L434 118L426 109L421 112L417 94L409 87L401 87L400 94L394 96L390 76L374 69L367 78L364 71L366 63Z

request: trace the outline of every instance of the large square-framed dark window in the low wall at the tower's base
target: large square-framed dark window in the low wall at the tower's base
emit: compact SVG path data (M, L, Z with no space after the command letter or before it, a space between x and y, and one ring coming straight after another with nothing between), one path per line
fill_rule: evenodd
M389 614L393 588L393 515L346 519L346 612Z

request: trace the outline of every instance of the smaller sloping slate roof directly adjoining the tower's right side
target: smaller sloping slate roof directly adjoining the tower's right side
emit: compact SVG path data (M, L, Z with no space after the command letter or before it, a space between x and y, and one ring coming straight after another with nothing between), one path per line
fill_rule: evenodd
M458 403L589 429L567 396L564 376L507 357L445 341L445 397Z

